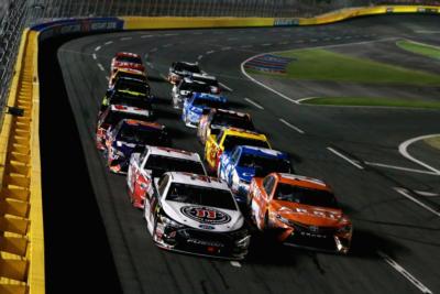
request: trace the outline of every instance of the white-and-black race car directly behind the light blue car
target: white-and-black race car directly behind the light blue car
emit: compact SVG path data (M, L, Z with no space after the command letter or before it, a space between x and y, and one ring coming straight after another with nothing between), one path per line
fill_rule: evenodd
M196 81L188 77L173 86L172 100L174 108L178 109L194 92L211 92L211 87L204 81Z

